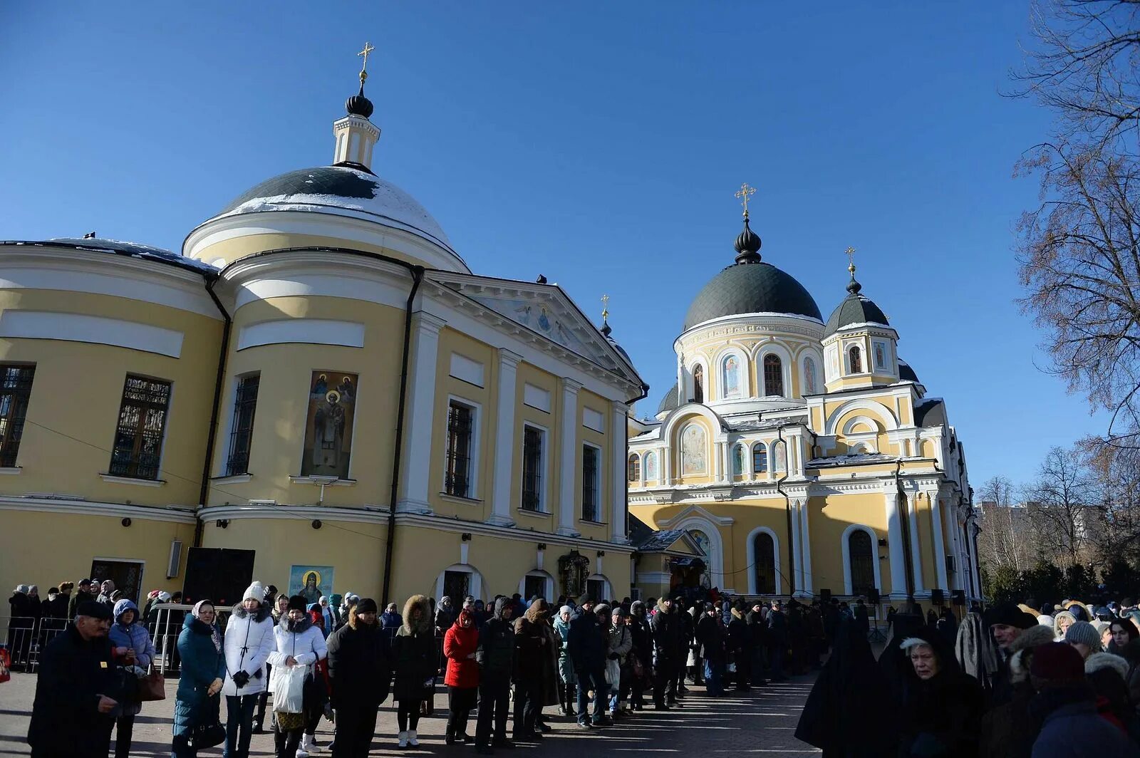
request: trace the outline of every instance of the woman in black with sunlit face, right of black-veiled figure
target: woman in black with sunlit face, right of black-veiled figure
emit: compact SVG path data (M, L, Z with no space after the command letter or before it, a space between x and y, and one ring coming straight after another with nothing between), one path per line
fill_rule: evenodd
M937 631L922 629L903 639L911 669L903 684L898 758L951 758L978 755L982 687L962 673Z

